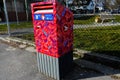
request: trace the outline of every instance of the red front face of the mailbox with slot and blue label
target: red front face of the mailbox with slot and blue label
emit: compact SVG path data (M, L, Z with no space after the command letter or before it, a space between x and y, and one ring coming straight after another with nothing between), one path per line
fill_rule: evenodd
M42 54L58 57L56 4L33 4L33 24L36 49Z

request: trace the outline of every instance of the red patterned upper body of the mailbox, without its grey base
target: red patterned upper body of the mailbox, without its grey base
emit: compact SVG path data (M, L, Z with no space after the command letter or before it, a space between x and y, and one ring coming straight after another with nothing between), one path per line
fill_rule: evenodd
M73 48L73 14L58 2L32 4L37 51L60 57Z

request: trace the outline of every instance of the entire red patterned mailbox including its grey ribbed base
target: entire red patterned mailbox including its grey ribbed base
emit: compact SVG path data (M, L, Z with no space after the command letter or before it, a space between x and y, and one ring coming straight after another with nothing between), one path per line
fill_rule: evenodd
M46 68L47 72L41 68L40 71L50 75L48 72L53 72L48 71L50 66L55 68L49 64L50 60L43 59L44 56L56 59L58 62L53 60L52 63L58 64L58 70L62 70L58 71L58 74L60 77L64 76L68 72L68 67L72 66L73 60L73 14L57 1L32 3L31 8L39 67L49 66ZM51 77L56 76L54 74Z

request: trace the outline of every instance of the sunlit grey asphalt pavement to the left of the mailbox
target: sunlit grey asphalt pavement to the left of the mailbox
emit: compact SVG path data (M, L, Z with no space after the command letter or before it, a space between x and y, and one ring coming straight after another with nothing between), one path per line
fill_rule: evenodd
M0 42L0 80L48 80L38 73L36 55Z

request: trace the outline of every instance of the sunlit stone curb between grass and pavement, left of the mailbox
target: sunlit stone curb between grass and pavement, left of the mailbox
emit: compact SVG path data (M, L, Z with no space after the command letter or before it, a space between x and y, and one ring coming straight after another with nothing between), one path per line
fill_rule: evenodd
M32 41L13 37L0 37L0 41L12 45L14 47L19 47L20 49L36 53L35 44Z

